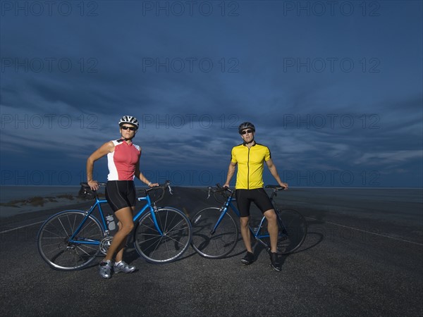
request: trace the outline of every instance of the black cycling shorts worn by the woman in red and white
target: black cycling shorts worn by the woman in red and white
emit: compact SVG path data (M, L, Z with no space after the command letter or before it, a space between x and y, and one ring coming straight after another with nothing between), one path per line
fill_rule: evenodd
M109 180L106 184L106 199L116 212L125 207L135 206L137 195L133 180Z

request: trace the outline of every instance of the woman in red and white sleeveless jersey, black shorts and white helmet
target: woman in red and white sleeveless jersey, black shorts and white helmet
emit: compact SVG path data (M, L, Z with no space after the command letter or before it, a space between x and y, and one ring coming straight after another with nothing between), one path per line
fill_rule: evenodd
M134 228L133 211L137 198L135 176L149 187L159 185L149 182L140 172L141 148L132 142L138 128L137 118L123 116L119 120L121 138L104 143L87 159L87 182L92 190L97 190L99 189L98 182L92 179L94 162L107 155L109 175L107 176L106 199L119 220L118 232L114 235L106 258L99 263L99 274L102 278L111 278L112 268L114 273L135 271L135 266L128 266L122 259L126 237ZM113 264L114 254L116 258Z

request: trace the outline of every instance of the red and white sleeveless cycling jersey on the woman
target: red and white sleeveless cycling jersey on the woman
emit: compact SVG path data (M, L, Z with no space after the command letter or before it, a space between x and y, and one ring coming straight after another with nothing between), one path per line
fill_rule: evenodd
M126 143L123 139L112 141L115 149L107 154L109 175L107 180L133 180L135 165L141 155L141 148L133 142Z

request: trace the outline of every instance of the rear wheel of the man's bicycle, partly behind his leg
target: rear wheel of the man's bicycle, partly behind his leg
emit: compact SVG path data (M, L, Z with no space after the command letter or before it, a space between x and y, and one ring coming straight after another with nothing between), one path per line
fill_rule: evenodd
M307 222L305 218L293 209L276 209L278 215L278 254L290 254L301 247L307 235ZM260 239L270 248L267 220L263 221L260 228Z

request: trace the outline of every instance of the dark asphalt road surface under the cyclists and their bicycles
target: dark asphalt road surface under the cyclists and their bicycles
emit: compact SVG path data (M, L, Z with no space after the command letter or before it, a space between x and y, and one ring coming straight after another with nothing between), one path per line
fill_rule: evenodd
M205 197L202 189L179 187L163 204L192 215L212 204ZM295 189L278 199L300 210L309 224L305 244L283 258L279 273L260 247L255 263L241 265L241 241L226 259L204 259L190 248L164 265L147 263L130 247L125 259L137 271L111 280L99 277L97 265L54 271L40 258L36 237L39 222L56 211L2 218L0 315L423 315L421 203L313 201Z

